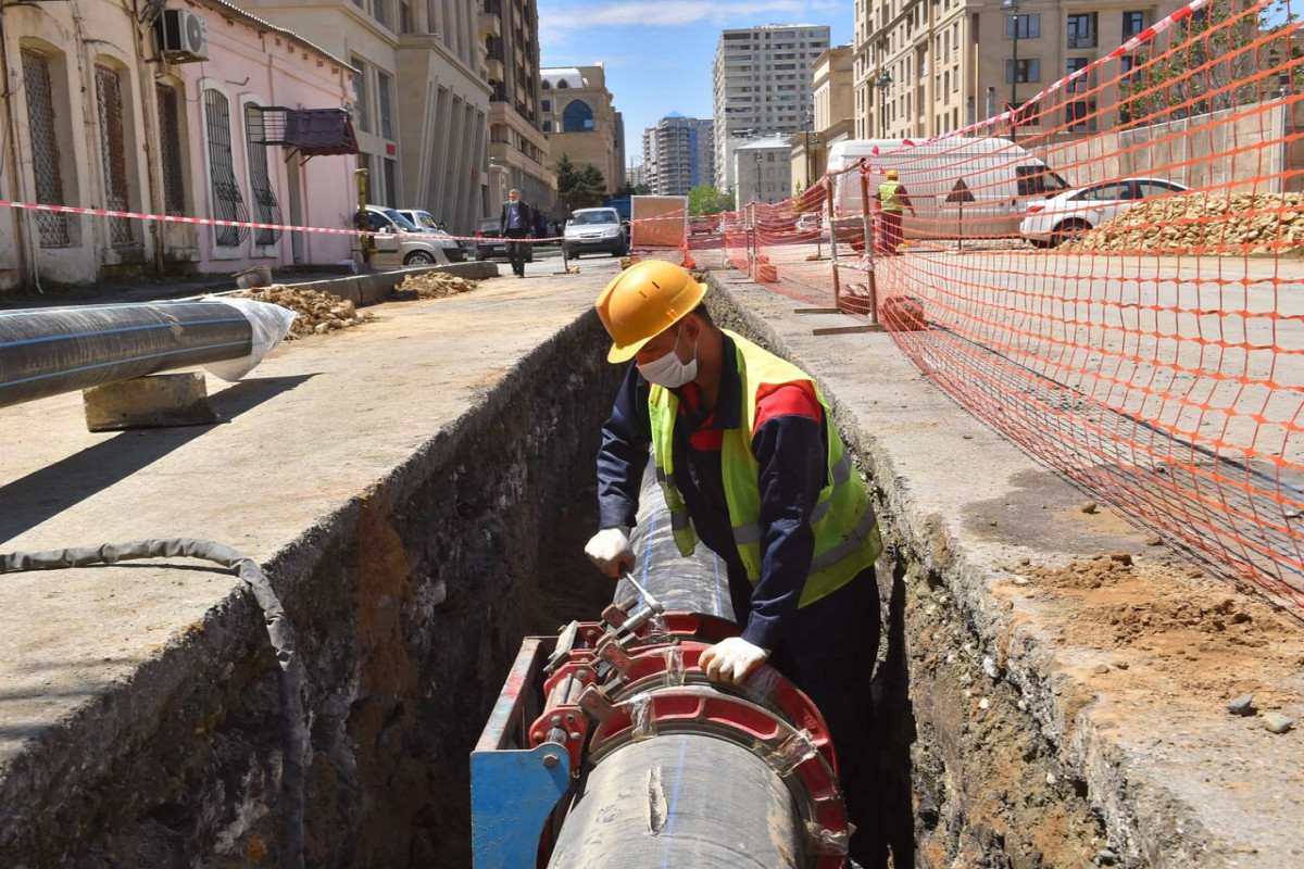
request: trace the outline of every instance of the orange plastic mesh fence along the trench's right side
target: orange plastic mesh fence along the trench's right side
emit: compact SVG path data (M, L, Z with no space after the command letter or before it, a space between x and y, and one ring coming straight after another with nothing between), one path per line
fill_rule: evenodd
M1022 85L1016 111L835 147L811 189L717 215L698 246L853 315L872 293L964 406L1299 615L1294 3L1192 3L1035 96Z

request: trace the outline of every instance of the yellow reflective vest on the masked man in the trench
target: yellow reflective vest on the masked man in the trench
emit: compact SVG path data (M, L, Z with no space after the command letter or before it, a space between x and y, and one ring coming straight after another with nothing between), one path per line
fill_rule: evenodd
M742 425L724 433L720 464L734 545L752 584L760 581L763 558L760 464L751 451L758 390L767 384L807 380L815 387L815 395L824 410L824 426L828 433L828 476L811 515L815 554L798 603L808 606L838 590L878 560L883 552L879 524L865 486L852 468L852 456L837 434L837 426L832 422L828 403L810 375L734 332L725 330L725 335L733 339L737 348L738 375L746 406ZM665 503L670 508L674 542L679 552L687 556L696 548L698 533L692 528L692 520L674 478L673 444L674 426L679 417L679 399L670 390L653 384L648 395L648 410L657 482L661 483Z

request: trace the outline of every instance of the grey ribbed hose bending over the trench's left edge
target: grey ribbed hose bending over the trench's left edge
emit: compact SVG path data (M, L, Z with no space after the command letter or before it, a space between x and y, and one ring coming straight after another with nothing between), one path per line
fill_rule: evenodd
M308 757L308 722L304 717L304 667L295 653L295 632L271 588L267 575L253 559L213 541L155 539L107 543L99 547L9 552L0 555L0 573L53 571L90 564L115 564L145 558L193 558L232 569L262 608L267 637L276 653L276 684L280 689L282 748L280 775L280 865L304 865L304 766Z

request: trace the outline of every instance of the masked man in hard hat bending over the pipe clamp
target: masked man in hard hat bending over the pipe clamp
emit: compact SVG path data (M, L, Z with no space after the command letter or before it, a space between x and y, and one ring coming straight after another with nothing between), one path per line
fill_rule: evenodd
M705 287L648 259L596 307L608 361L634 360L602 426L600 530L585 554L618 577L651 447L683 555L700 541L728 567L741 636L702 655L711 679L741 683L769 662L819 706L838 754L852 857L885 865L875 809L870 675L879 642L878 521L810 375L720 330Z

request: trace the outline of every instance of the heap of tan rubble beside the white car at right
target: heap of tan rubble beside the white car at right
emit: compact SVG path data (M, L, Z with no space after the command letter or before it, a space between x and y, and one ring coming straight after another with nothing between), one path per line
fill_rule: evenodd
M1063 249L1279 255L1301 242L1304 194L1201 190L1134 205Z

